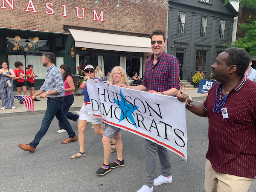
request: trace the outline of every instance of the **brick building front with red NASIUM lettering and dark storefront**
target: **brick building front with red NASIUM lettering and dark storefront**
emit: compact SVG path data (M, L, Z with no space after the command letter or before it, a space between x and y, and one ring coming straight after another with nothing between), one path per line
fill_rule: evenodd
M3 0L0 2L0 61L7 61L10 68L15 61L25 66L33 64L41 79L35 87L44 81L41 55L46 51L55 53L57 67L69 64L73 73L78 66L93 64L101 65L105 73L121 65L130 66L130 72L143 74L151 55L151 51L146 52L150 48L148 37L155 29L166 32L167 14L168 0ZM90 42L84 42L87 46L77 47L76 39L81 37L73 37L70 29L79 30L84 34L81 36L89 31L96 33ZM115 42L116 38L103 38L102 47L108 47L103 42L108 40L110 44L113 42L113 48L96 49L93 42L99 40L98 34L136 38L125 45L122 41ZM140 41L148 41L148 47L140 46ZM134 50L132 43L136 44ZM125 46L128 49L124 51L121 48ZM71 47L75 48L75 58L70 57Z

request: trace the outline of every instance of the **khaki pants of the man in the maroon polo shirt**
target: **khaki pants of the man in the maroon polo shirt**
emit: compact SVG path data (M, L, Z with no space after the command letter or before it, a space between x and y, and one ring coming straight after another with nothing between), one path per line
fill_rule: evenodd
M210 161L206 161L204 179L206 192L247 192L252 182L253 178L215 172Z

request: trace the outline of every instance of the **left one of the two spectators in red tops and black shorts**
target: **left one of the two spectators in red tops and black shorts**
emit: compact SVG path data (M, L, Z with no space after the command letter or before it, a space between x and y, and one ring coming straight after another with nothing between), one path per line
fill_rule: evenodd
M20 61L16 61L14 63L14 66L17 67L17 69L14 70L16 78L14 78L13 80L15 80L15 85L18 90L18 95L21 95L21 89L23 90L24 95L28 95L26 92L26 84L24 81L25 74L24 74L24 71L21 69L23 67L23 63L21 63ZM22 102L20 103L22 104Z

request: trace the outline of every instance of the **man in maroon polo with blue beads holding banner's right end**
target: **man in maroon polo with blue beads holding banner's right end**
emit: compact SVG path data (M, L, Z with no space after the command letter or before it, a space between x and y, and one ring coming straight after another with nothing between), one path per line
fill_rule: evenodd
M256 176L256 82L244 76L249 61L244 49L225 49L211 66L219 82L204 104L187 105L187 95L177 97L187 99L192 113L209 118L206 192L247 192Z

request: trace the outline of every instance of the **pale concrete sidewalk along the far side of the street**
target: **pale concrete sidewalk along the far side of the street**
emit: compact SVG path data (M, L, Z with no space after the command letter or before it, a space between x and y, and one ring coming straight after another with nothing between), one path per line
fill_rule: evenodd
M37 92L38 90L35 90ZM198 88L194 88L194 90L184 90L186 93L192 97L193 100L195 99L204 99L206 96L201 93L197 93ZM23 92L21 92L23 93ZM28 90L29 93L29 90ZM17 91L13 92L14 95L17 95ZM38 99L41 99L37 97ZM84 95L74 96L74 103L70 107L70 111L79 111L81 106L83 105ZM11 117L11 116L23 116L23 115L36 115L45 113L47 108L47 99L41 99L41 101L34 102L34 112L29 111L25 105L20 104L19 100L14 98L15 107L17 109L13 110L12 108L6 108L6 110L0 110L0 118L1 117ZM0 100L0 106L2 107L2 100Z

